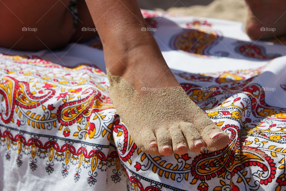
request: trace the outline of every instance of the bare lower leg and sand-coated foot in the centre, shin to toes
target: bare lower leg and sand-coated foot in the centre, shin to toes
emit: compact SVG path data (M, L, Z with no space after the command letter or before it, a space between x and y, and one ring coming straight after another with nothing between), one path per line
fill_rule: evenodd
M225 147L228 135L181 88L146 30L137 1L86 0L86 4L110 72L111 101L137 146L153 155Z

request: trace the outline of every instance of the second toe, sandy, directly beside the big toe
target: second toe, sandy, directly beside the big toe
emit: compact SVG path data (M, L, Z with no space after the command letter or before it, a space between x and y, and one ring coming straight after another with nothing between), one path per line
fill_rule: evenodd
M190 151L198 153L204 149L205 142L193 124L181 123L179 127L186 138Z

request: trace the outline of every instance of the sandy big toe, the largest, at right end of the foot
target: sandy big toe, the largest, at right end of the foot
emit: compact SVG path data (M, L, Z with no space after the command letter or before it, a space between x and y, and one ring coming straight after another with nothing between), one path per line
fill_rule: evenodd
M220 150L229 143L229 136L216 124L212 123L206 127L197 127L197 129L203 129L200 134L203 136L208 150Z

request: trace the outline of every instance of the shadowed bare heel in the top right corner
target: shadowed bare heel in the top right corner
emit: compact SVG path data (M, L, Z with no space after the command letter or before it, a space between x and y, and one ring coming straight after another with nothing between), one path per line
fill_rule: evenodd
M245 31L251 39L271 38L286 33L286 2L281 0L245 0L248 19Z

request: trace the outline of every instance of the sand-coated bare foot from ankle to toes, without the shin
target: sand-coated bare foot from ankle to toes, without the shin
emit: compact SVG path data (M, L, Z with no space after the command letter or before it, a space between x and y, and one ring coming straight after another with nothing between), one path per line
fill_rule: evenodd
M137 51L127 59L138 63L136 66L127 63L121 75L115 71L117 67L108 73L111 101L136 145L153 155L225 147L229 136L186 95L165 61L151 51Z

